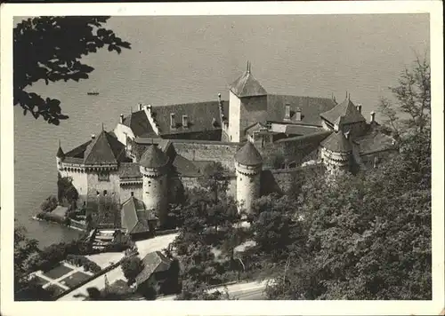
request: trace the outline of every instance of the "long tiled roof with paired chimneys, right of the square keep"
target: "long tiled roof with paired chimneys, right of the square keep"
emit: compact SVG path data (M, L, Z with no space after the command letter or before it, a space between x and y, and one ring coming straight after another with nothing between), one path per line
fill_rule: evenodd
M269 94L267 96L267 112L269 122L284 122L286 105L290 106L290 120L301 125L321 126L320 113L326 112L336 103L329 98L299 97L281 94ZM301 121L295 121L295 110L299 107L302 113Z

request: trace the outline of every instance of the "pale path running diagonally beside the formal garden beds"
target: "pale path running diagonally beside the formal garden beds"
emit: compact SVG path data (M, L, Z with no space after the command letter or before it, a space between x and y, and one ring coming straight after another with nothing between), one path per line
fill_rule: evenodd
M166 249L168 244L174 241L174 238L177 236L177 233L172 233L164 236L158 236L145 241L136 241L136 246L139 251L139 256L141 258L145 257L148 253L152 251L158 251L162 249ZM89 258L93 261L97 261L98 265L101 265L103 268L106 263L109 262L117 262L117 260L122 257L122 253L103 253L98 255L90 256ZM108 273L101 275L100 277L89 281L84 284L82 287L75 289L70 292L66 296L61 296L58 301L82 301L84 297L75 297L79 294L87 295L86 288L105 288L105 275L109 280L109 284L117 280L125 280L124 273L122 273L122 269L120 266L110 270Z

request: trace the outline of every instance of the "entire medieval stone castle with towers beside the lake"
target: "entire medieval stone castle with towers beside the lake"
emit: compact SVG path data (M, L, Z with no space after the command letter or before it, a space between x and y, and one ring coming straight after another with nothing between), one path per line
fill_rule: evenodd
M247 211L262 194L286 192L304 168L330 174L375 167L396 150L394 139L350 95L310 98L266 92L251 66L231 84L229 100L167 106L139 105L64 153L57 168L80 200L112 197L127 233L163 225L174 188L197 186L206 165L221 162L230 194Z

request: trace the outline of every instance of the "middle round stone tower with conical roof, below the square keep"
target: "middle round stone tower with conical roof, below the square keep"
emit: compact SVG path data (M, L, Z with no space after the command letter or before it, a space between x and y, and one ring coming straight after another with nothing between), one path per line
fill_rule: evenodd
M263 159L255 146L247 141L235 155L237 170L237 201L239 210L250 212L255 199L260 197Z

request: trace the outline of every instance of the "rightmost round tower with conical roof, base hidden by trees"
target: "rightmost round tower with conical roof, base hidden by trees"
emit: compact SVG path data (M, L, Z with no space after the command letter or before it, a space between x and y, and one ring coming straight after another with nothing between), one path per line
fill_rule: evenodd
M341 130L321 142L321 159L332 175L350 170L351 155L352 145Z

